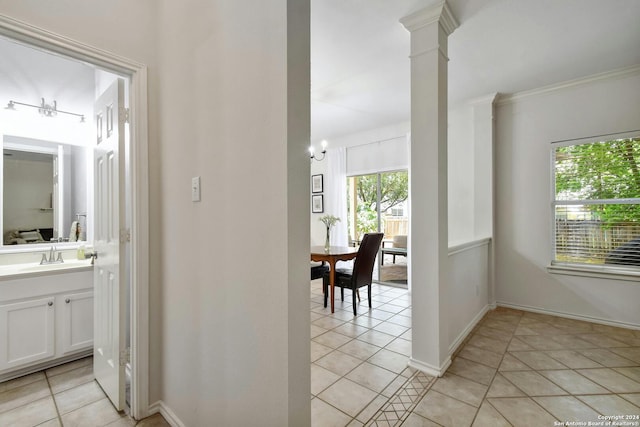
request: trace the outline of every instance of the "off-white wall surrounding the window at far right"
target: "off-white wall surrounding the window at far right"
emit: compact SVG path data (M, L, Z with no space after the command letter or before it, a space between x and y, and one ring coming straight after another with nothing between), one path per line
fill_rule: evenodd
M640 70L497 107L496 296L531 307L640 327L637 282L551 274L550 142L640 129Z

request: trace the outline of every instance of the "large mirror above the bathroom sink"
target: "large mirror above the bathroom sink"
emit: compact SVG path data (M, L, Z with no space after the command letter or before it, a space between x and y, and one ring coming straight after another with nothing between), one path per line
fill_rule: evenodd
M87 240L86 147L4 135L3 247Z

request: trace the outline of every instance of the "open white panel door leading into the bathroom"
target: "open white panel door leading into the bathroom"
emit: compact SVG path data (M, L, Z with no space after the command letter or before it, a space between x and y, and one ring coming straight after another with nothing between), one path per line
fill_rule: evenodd
M95 104L96 141L93 372L118 410L125 405L126 281L121 277L120 224L124 224L124 81L116 80Z

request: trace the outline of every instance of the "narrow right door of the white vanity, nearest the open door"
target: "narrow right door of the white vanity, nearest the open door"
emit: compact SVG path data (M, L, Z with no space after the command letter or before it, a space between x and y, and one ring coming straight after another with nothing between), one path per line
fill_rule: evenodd
M62 352L93 347L93 291L62 296Z

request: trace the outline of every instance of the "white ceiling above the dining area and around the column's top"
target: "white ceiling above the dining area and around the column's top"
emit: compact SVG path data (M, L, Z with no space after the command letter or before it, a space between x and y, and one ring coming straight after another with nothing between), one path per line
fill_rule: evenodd
M311 140L408 121L409 33L433 0L311 0ZM448 0L449 103L640 64L638 0Z

